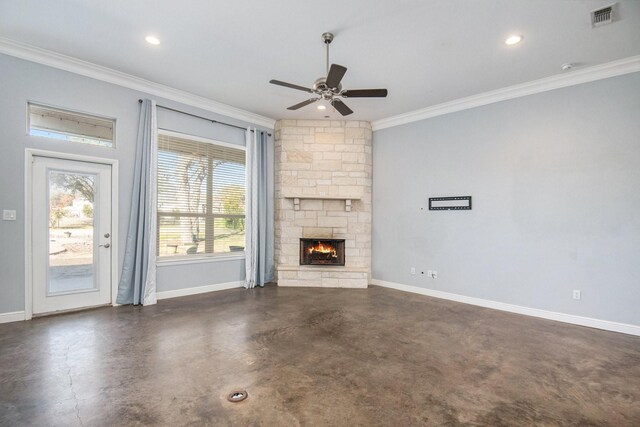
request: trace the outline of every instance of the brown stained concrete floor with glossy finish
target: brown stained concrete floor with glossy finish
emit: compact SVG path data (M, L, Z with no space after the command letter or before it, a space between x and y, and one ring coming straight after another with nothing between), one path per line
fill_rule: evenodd
M379 287L233 289L0 325L0 424L639 426L640 337Z

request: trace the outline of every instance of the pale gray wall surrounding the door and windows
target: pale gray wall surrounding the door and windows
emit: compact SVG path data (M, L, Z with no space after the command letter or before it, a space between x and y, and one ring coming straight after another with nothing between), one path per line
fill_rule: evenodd
M154 98L172 108L241 126L247 123L201 111L141 92L100 82L0 54L0 210L15 209L17 221L0 221L0 313L24 310L24 159L25 148L83 154L119 160L119 268L131 204L131 182L138 126L138 99ZM35 101L117 119L114 150L26 134L26 103ZM244 145L244 132L158 110L165 129ZM158 291L243 280L243 261L212 262L158 268ZM116 284L117 285L117 284Z

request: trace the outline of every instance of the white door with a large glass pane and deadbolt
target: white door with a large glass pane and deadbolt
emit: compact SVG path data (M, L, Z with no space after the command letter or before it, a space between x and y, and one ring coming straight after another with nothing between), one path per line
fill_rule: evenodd
M33 313L111 303L111 166L34 157Z

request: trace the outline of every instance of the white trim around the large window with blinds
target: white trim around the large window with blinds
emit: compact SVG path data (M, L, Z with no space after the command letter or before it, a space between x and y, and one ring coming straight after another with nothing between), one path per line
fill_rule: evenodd
M158 128L158 135L173 136L175 138L191 139L193 141L203 142L205 144L220 145L228 148L235 148L243 151L247 151L247 147L244 145L232 144L230 142L218 141L217 139L204 138L201 136L191 135L183 132L175 132L168 129ZM157 141L156 141L157 144ZM245 173L246 179L246 173ZM158 205L155 206L155 215L158 218ZM247 215L245 213L245 221ZM193 255L180 255L180 256L158 256L156 257L156 266L165 267L170 265L187 265L187 264L201 264L212 263L221 261L237 261L244 260L245 252L218 252L212 254L193 254Z

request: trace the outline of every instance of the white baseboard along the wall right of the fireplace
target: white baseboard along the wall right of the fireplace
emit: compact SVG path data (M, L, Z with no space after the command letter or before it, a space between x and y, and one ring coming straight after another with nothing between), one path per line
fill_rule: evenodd
M495 310L508 311L511 313L524 314L526 316L540 317L558 322L571 323L573 325L587 326L589 328L603 329L605 331L620 332L623 334L640 336L640 325L627 323L610 322L608 320L593 319L591 317L575 316L573 314L558 313L555 311L540 310L538 308L523 307L520 305L507 304L504 302L491 301L481 298L468 297L464 295L452 294L449 292L436 291L433 289L421 288L418 286L403 285L401 283L386 282L384 280L372 279L372 285L383 286L385 288L397 289L404 292L426 295L434 298L441 298L450 301L462 302L465 304L478 305L480 307L492 308Z

